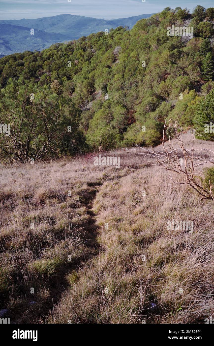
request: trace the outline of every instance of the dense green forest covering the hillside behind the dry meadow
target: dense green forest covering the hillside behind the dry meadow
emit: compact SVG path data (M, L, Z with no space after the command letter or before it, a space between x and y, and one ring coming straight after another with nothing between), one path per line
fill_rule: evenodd
M166 120L214 121L214 8L165 8L128 28L0 59L4 157L44 156L157 145ZM194 37L167 36L193 27ZM2 155L1 155L2 156Z

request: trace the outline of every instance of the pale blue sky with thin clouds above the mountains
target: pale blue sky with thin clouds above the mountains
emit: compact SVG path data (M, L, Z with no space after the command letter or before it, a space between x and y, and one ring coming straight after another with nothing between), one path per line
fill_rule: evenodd
M213 7L213 0L0 0L0 20L31 19L70 15L114 19L139 16L162 11L165 7L177 6L192 9L202 4Z

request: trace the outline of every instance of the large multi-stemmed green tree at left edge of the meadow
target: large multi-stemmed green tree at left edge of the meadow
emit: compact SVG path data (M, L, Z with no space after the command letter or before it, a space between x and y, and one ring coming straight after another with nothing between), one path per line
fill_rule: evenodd
M28 162L81 149L84 138L71 100L53 94L47 85L22 82L10 79L0 92L0 123L10 124L10 134L0 135L1 157Z

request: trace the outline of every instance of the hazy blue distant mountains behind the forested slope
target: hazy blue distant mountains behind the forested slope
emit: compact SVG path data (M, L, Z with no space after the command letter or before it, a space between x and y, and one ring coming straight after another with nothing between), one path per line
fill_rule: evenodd
M113 20L73 15L0 20L0 56L24 51L41 51L53 43L78 39L104 31L106 28L132 28L138 20L149 18L152 14ZM30 34L31 29L34 29L34 35Z

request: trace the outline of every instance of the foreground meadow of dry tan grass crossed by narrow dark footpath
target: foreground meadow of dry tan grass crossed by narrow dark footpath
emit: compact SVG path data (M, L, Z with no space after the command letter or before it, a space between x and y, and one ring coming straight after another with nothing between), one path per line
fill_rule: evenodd
M213 202L138 152L115 152L120 169L84 157L0 169L0 304L13 322L204 323L214 314ZM193 233L167 230L173 219L194 221Z

